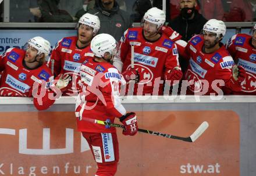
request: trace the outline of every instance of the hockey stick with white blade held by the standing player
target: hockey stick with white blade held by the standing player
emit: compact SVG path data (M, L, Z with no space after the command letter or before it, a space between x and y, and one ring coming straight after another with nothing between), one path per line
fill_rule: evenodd
M111 127L118 127L118 128L125 128L124 125L120 125L120 124L114 124L114 123L109 123L107 121L102 121L102 120L96 120L96 119L92 119L92 118L82 118L82 120L86 120L86 121L90 121L92 123L95 124L101 124L101 125L109 125ZM156 131L150 131L150 130L144 130L144 129L140 129L138 128L138 132L144 132L147 134L152 134L152 135L157 135L159 137L165 137L165 138L170 138L170 139L177 139L177 140L182 140L182 141L186 141L186 142L194 142L197 138L200 137L200 135L209 127L209 124L207 121L204 121L203 123L201 123L201 125L197 128L197 130L195 130L193 132L193 134L190 135L190 137L178 137L175 135L170 135L170 134L165 134L165 133L161 133L161 132L156 132Z

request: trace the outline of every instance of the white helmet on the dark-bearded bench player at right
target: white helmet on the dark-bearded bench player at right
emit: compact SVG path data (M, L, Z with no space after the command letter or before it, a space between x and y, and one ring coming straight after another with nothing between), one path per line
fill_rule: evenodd
M226 34L226 25L221 20L211 19L204 24L202 30L215 33L216 37L220 38Z

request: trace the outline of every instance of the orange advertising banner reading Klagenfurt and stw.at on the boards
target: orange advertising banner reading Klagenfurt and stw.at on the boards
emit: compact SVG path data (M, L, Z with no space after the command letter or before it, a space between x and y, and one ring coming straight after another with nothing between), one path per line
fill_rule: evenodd
M189 137L195 142L137 134L119 138L119 176L240 175L240 121L230 110L136 112L146 130ZM116 123L119 120L116 119ZM74 112L0 112L0 175L93 175L97 165L76 131Z

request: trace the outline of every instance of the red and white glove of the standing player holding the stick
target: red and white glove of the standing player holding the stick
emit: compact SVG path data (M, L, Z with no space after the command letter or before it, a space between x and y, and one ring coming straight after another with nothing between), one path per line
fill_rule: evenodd
M123 129L123 135L135 135L138 131L137 117L136 114L131 112L120 117L120 121L125 125Z

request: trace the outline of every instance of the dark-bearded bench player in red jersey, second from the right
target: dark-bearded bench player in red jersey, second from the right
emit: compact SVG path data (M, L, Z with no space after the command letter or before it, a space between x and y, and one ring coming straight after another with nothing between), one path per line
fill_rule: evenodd
M187 94L230 94L230 91L241 89L245 70L241 66L237 70L233 58L222 44L225 33L225 23L211 19L205 23L203 34L195 35L188 42L189 67L184 74L184 80L189 81ZM181 94L184 93L182 89Z

